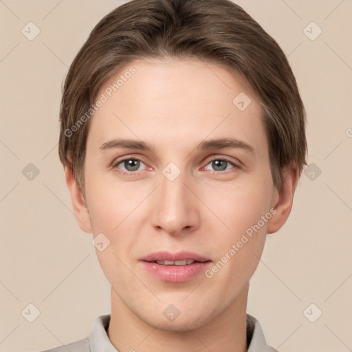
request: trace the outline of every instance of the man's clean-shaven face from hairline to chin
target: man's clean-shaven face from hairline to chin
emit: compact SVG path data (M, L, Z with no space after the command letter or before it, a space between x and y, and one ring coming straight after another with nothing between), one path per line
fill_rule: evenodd
M192 60L133 62L102 94L85 159L102 271L144 322L200 327L239 300L285 220L261 106L235 74Z

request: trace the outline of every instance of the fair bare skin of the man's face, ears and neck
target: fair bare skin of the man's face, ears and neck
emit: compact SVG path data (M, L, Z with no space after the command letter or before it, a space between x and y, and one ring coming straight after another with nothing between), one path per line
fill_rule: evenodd
M120 352L245 352L249 281L266 234L289 216L297 168L285 170L279 191L270 172L261 105L228 69L179 59L144 59L131 66L135 74L91 120L85 198L65 169L80 228L94 236L102 232L110 241L102 252L96 250L111 283L109 339ZM252 100L244 111L232 103L240 92ZM122 137L151 144L153 151L100 150ZM196 149L203 140L223 137L250 144L254 153ZM118 164L128 157L141 160L137 170ZM222 168L212 162L223 157L230 162ZM173 181L162 173L170 162L181 171ZM201 273L185 283L168 283L138 261L159 250L189 250L214 265L271 208L276 214L212 278ZM180 312L172 322L163 314L170 304Z

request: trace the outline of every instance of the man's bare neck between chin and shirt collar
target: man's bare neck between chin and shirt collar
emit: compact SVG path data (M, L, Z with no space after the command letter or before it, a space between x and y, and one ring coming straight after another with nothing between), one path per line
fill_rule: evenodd
M246 308L249 284L217 316L197 329L157 329L124 305L111 288L111 319L107 336L119 352L246 352Z

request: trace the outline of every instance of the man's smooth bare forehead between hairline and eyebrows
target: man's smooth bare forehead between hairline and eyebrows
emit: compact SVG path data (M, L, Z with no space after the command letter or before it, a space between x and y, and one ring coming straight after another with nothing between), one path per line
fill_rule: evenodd
M113 75L97 98L103 96L89 127L89 143L96 146L131 137L181 147L208 136L236 137L266 149L256 95L238 74L219 65L145 58Z

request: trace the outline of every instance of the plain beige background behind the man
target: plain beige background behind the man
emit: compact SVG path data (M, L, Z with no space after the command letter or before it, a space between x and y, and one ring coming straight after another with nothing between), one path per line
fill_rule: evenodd
M110 311L109 285L58 159L58 107L67 67L122 2L0 0L0 351L85 338ZM309 164L321 170L301 177L291 217L268 235L248 312L281 352L352 351L352 1L236 3L289 57L309 119ZM40 30L32 41L21 33L30 21ZM322 30L314 41L304 32L311 21ZM31 181L22 173L29 163L39 170ZM40 311L34 322L21 314L30 303ZM303 314L311 303L310 317L322 311L316 322Z

